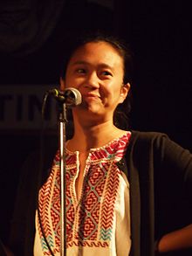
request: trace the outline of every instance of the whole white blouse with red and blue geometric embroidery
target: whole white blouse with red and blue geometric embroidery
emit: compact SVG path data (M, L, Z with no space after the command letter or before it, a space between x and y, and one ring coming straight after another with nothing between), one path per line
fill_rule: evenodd
M66 254L67 256L127 256L130 251L130 203L127 177L115 164L124 156L130 132L99 149L90 149L86 160L81 196L77 200L75 181L79 173L79 152L66 154ZM55 256L59 240L59 157L38 195L38 207L45 237ZM51 255L36 214L34 255Z

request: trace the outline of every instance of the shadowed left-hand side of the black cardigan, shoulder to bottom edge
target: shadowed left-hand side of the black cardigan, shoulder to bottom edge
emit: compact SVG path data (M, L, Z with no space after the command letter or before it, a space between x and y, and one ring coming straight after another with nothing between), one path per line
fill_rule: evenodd
M48 176L56 150L57 142L45 148L42 156L37 150L24 162L10 224L9 246L16 256L33 254L38 189Z

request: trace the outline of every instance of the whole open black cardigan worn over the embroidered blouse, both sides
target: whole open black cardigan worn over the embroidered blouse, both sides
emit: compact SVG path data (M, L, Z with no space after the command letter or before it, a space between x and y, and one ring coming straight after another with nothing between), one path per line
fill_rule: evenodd
M45 152L43 170L51 166L55 151ZM131 256L154 256L155 239L192 223L192 156L167 135L132 131L118 166L130 183ZM33 154L24 164L11 225L10 246L18 256L33 255L39 173L39 154ZM171 212L175 203L177 212Z

